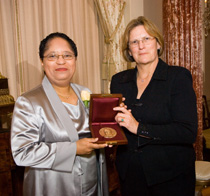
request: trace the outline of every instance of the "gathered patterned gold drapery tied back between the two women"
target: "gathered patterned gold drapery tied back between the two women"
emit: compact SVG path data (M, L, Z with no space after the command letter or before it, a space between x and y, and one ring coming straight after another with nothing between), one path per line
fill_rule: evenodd
M113 74L127 68L122 58L121 37L124 32L123 0L94 0L104 33L104 58L102 63L103 91L109 92Z

